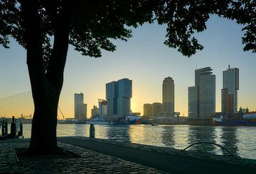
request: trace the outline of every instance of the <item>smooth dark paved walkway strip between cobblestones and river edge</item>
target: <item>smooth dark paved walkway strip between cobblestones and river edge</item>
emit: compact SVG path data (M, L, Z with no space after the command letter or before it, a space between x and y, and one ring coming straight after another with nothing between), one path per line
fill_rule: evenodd
M58 141L98 151L169 173L256 173L256 161L233 156L195 153L87 137L59 137Z

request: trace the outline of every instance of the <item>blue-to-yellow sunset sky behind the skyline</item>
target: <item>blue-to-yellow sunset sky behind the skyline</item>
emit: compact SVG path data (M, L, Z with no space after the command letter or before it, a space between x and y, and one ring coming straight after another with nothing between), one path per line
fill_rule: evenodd
M194 70L210 66L216 75L216 111L220 111L222 73L230 64L240 69L238 108L256 110L256 54L242 50L241 29L235 21L211 16L207 30L196 34L204 50L190 58L164 45L166 26L157 24L133 29L133 37L127 42L114 40L117 50L102 51L100 58L82 56L70 46L59 107L65 117L73 117L74 93L82 92L90 117L97 99L105 99L105 84L128 78L132 80L132 112L143 115L144 103L162 102L161 85L170 76L175 85L175 110L187 116L188 86L194 86ZM26 51L13 39L9 46L0 47L0 101L31 90ZM0 104L0 117L22 113L33 114L31 97L8 112L1 110Z

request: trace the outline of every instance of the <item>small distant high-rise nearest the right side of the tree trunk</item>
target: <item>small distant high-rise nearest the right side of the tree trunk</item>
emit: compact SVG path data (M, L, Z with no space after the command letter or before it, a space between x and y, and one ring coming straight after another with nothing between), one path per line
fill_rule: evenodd
M74 95L74 118L78 121L87 119L87 104L84 103L83 98L83 93L75 93Z

